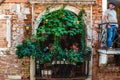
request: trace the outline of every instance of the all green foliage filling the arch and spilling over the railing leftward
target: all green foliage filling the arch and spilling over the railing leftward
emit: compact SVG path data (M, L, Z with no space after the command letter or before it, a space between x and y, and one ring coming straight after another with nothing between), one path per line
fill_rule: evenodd
M85 46L83 14L85 14L85 10L81 10L79 15L76 16L74 13L62 8L43 15L42 22L37 28L37 40L25 40L17 45L16 54L18 58L23 58L24 56L40 58L40 63L42 64L52 60L65 60L69 63L84 61L84 56L90 53ZM80 44L82 49L80 52L61 48L59 42L63 35L75 36L76 34L81 37ZM40 44L45 43L49 35L53 35L54 49L46 48L47 50L44 50Z

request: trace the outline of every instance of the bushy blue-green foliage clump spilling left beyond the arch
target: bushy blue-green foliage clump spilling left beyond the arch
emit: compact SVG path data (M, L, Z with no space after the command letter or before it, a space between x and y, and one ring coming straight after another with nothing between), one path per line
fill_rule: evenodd
M38 57L40 56L39 54L41 53L40 48L38 48L39 46L40 45L35 41L25 40L16 46L16 55L18 56L19 59L25 56Z

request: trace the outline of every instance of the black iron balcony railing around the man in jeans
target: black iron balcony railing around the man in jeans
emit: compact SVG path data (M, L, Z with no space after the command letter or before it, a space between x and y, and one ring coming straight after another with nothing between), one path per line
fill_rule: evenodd
M108 24L118 24L115 22L99 24L99 45L98 48L107 49L107 26ZM120 48L120 28L117 29L117 36L113 41L113 48Z

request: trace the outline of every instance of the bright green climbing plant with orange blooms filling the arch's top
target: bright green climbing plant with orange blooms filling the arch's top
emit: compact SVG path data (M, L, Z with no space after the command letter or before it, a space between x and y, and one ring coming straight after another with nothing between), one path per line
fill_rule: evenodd
M54 45L59 45L59 40L63 35L69 34L70 36L74 36L80 34L84 36L83 14L83 10L81 10L77 17L68 10L60 9L43 15L42 25L37 28L38 40L45 41L48 35L52 34ZM85 43L85 39L83 37L81 39L81 43Z

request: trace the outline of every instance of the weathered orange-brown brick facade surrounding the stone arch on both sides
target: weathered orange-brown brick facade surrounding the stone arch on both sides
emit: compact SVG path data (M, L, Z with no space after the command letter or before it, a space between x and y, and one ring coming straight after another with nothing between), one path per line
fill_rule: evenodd
M22 3L21 3L21 2ZM27 0L6 0L0 5L0 15L11 15L11 47L7 50L0 50L0 80L9 80L10 75L22 76L22 80L30 80L30 60L28 58L17 59L15 55L15 47L22 42L25 37L26 23L31 24L32 12L31 5ZM20 6L20 10L19 10ZM35 18L42 13L48 5L35 4ZM50 5L49 5L50 6ZM55 6L55 5L52 5ZM88 5L70 5L77 9L84 8L90 18L90 6ZM18 7L17 11L16 8ZM13 9L11 9L13 8ZM23 13L29 8L30 14ZM25 16L25 17L23 17ZM98 45L98 24L101 23L102 18L102 0L96 0L96 4L92 7L92 47L93 47L93 63L92 63L92 80L120 80L119 67L99 67L99 55L97 53ZM1 25L1 24L0 24ZM0 30L4 30L0 28ZM4 31L0 32L4 34ZM4 35L2 35L4 36ZM0 47L6 46L6 41L0 35ZM2 44L2 45L1 45ZM114 70L113 70L114 69ZM118 71L118 72L114 72Z

